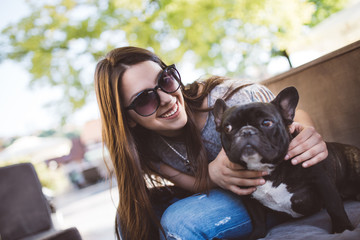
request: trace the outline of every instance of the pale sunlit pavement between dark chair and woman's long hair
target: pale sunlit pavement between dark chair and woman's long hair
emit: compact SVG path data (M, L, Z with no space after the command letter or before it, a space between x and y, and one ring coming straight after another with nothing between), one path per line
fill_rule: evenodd
M115 240L117 187L109 181L73 190L54 199L55 228L76 227L83 240Z

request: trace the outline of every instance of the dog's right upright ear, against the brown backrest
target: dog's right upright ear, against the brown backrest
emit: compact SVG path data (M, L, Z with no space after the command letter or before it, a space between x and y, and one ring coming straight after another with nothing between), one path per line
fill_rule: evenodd
M280 109L286 124L291 124L294 120L295 109L299 102L299 93L295 87L288 87L282 90L271 102Z

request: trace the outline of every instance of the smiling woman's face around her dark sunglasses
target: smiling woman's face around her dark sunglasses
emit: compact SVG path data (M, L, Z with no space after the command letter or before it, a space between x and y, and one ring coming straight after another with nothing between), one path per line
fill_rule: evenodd
M121 95L125 107L129 106L135 97L145 89L154 88L163 70L153 61L145 61L130 66L124 73L121 82ZM180 88L174 93L166 93L157 89L160 98L158 109L150 116L144 117L134 110L127 110L130 116L130 126L136 124L153 130L164 136L177 136L187 122L184 98Z

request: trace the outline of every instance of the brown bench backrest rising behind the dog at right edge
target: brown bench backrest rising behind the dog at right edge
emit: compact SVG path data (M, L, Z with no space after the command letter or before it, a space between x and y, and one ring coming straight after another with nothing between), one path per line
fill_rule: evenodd
M274 94L295 86L299 108L325 141L360 148L360 41L262 82Z

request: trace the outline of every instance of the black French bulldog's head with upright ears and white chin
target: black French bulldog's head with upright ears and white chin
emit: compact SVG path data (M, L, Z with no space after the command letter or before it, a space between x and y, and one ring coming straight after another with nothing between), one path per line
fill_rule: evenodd
M294 87L282 90L271 103L254 102L227 107L215 102L216 130L230 161L250 170L271 171L288 150L288 125L293 122L299 95Z

